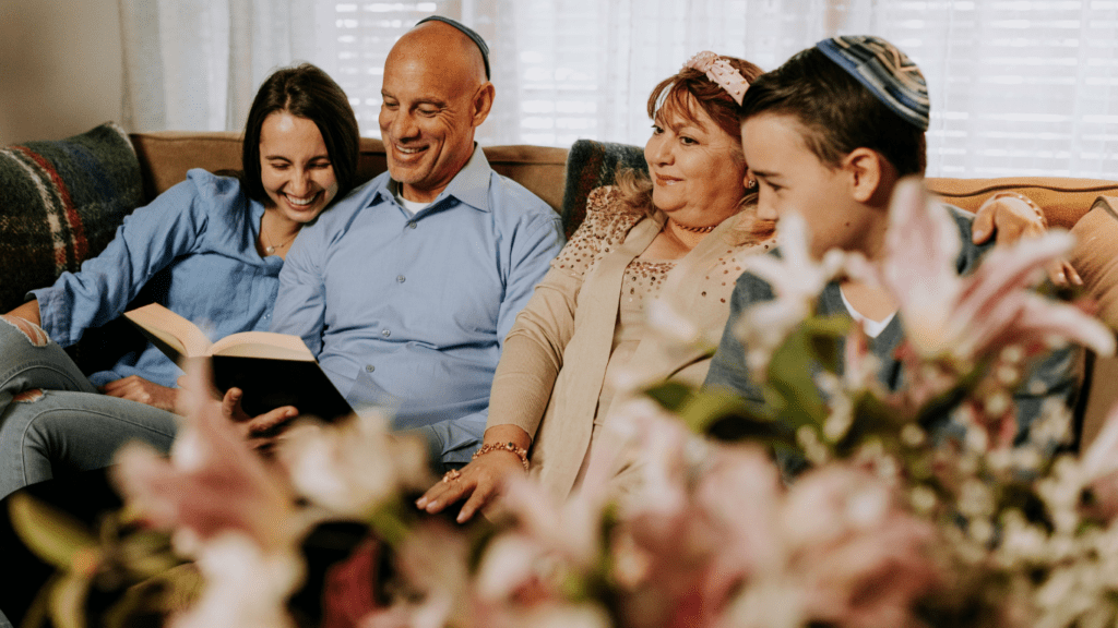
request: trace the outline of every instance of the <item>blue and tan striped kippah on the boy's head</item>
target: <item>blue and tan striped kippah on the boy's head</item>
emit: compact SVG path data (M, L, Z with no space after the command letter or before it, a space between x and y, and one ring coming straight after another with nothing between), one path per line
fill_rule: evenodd
M928 85L920 68L896 46L872 35L844 35L824 39L815 47L897 115L928 130Z

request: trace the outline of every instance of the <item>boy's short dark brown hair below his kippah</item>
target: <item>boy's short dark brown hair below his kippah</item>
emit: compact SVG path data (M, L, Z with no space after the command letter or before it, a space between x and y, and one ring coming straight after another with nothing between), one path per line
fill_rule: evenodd
M854 149L877 151L899 175L923 174L928 144L922 129L907 122L817 48L808 48L746 91L741 121L775 113L807 130L807 148L831 168Z

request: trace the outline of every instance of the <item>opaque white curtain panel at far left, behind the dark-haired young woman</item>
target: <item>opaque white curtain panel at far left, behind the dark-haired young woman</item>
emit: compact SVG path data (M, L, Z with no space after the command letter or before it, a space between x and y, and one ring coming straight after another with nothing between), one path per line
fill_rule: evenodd
M239 131L272 69L330 72L333 16L305 0L119 0L124 125Z

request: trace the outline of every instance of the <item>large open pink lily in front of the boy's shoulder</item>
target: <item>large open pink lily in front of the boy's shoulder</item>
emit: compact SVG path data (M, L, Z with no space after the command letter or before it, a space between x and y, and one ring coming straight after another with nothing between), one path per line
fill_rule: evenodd
M1112 355L1114 333L1100 321L1029 289L1072 244L1069 234L1051 232L997 247L975 273L959 277L957 228L922 183L906 180L890 208L882 284L897 297L909 341L923 359L970 364L1008 344L1040 351L1052 339Z

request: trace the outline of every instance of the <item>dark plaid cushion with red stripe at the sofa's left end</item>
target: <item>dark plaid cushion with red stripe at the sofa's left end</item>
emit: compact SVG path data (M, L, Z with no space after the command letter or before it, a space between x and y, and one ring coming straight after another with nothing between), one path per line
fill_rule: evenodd
M140 162L115 124L0 149L0 312L77 270L142 202Z

